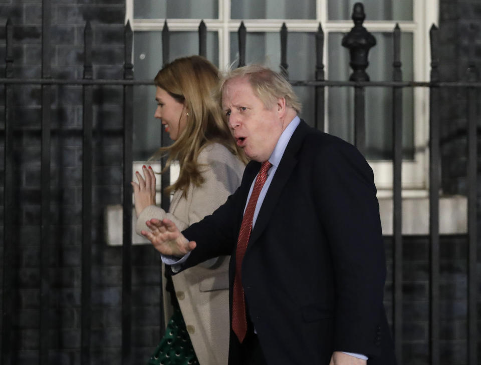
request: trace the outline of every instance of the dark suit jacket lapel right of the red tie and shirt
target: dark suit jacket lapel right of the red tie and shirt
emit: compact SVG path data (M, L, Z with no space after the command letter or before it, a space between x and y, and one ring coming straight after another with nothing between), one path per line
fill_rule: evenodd
M279 196L281 195L281 191L284 188L284 185L286 185L287 180L292 174L292 170L297 164L297 152L301 148L304 137L308 131L309 126L303 120L301 120L301 123L294 131L291 140L284 151L284 155L282 156L281 162L276 170L276 174L274 175L266 197L264 198L261 210L259 211L259 215L256 220L256 225L254 226L251 233L251 238L249 239L249 245L247 248L248 250L249 246L257 241L261 233L266 228L267 223L271 219L272 211L274 210Z

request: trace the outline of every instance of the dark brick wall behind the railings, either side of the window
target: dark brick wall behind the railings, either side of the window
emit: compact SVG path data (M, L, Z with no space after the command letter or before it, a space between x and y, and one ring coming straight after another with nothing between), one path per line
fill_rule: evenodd
M95 78L121 78L123 71L124 0L58 0L52 4L52 76L78 79L83 73L83 31L93 29ZM0 2L0 69L5 59L5 24L15 25L15 76L41 76L40 0ZM464 79L468 63L469 24L481 24L478 1L440 0L441 77ZM478 32L477 32L478 33ZM479 40L476 65L481 66ZM4 90L0 89L0 127L4 127ZM81 173L82 88L52 88L52 240L50 242L51 310L50 363L80 363L81 300ZM465 109L462 90L442 91L442 184L445 193L465 193ZM103 211L121 202L122 88L101 87L94 94L94 207L92 252L92 364L121 362L121 249L106 246ZM36 363L39 343L40 253L40 87L15 87L15 216L18 255L18 363ZM481 150L481 149L480 149ZM0 178L4 177L4 136L0 134ZM3 185L3 184L2 184ZM0 204L4 189L0 187ZM3 208L3 206L2 206ZM3 209L0 210L3 222ZM3 227L0 227L0 260ZM392 242L385 238L388 281L385 305L392 315ZM405 237L404 246L404 364L429 363L429 261L426 237ZM157 344L160 323L159 258L149 246L134 246L133 358L146 363ZM465 237L441 239L441 363L466 360ZM0 279L2 272L0 270ZM1 300L1 297L0 297ZM0 303L1 304L1 303ZM479 306L481 316L481 306Z

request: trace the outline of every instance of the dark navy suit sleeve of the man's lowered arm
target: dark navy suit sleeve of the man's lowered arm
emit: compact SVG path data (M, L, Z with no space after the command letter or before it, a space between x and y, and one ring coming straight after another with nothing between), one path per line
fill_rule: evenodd
M314 159L320 224L331 252L335 286L335 350L377 355L386 277L379 204L371 168L349 144Z

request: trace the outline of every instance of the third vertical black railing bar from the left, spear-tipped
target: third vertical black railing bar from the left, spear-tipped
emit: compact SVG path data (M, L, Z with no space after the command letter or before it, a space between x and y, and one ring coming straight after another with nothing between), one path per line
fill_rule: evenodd
M84 79L92 80L92 27L84 30ZM82 143L82 333L81 364L90 365L91 261L92 261L92 120L93 87L83 86L83 143Z

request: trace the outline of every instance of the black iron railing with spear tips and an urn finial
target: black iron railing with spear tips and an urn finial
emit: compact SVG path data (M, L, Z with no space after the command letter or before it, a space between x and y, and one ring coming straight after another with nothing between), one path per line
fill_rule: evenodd
M16 317L16 296L14 267L12 266L15 250L14 221L12 212L18 209L12 191L14 189L14 153L13 153L13 86L16 84L42 86L42 236L41 236L41 271L40 271L40 325L39 348L40 363L48 364L49 351L49 242L51 240L50 222L50 146L51 146L51 88L58 85L81 85L83 88L83 158L82 158L82 320L81 320L81 355L82 364L90 363L91 342L91 255L92 255L92 123L93 123L93 87L104 85L119 85L123 87L123 248L122 248L122 358L124 364L132 363L132 194L130 180L132 177L132 135L133 135L133 87L135 85L152 85L150 80L134 80L132 60L132 30L130 25L125 27L125 64L124 78L121 80L93 79L92 72L92 28L88 22L85 27L85 64L84 77L79 80L52 79L50 69L50 6L44 2L43 14L43 43L42 43L42 78L18 79L13 78L13 26L9 20L6 25L6 69L5 77L0 78L0 84L5 86L5 181L4 181L4 260L3 260L3 313L2 313L2 364L12 363L13 351L16 349L13 333ZM402 363L402 327L405 321L402 314L403 292L403 238L401 232L401 169L402 169L402 90L404 88L429 89L429 238L430 238L430 363L439 363L439 187L440 187L440 154L439 154L439 110L441 88L465 88L468 93L468 360L470 365L478 363L476 354L477 341L477 312L476 312L476 184L477 184L477 131L476 113L477 95L481 82L477 80L474 64L469 67L468 80L464 82L442 82L439 76L439 37L438 29L433 26L430 30L431 43L431 74L430 80L425 82L402 81L402 65L400 62L400 29L396 25L393 31L394 62L392 68L392 81L371 82L365 69L367 67L367 51L365 45L373 46L373 38L362 27L364 20L362 9L356 9L358 18L351 34L346 35L345 46L351 54L351 66L354 74L350 81L325 80L323 65L324 32L321 25L316 33L316 69L315 80L291 81L293 86L312 87L315 93L315 126L322 130L325 119L325 89L329 87L353 88L355 91L355 144L359 150L364 150L365 144L365 88L383 87L392 90L392 124L393 124L393 332L395 338L395 351L399 363ZM240 24L238 29L239 63L245 65L246 55L246 27ZM280 30L281 38L281 72L288 78L289 65L287 64L287 37L288 29L284 24ZM361 37L365 42L356 42L349 37ZM364 38L363 38L364 37ZM207 32L203 22L199 25L199 54L206 55ZM367 43L366 43L367 42ZM374 42L375 43L375 42ZM344 41L343 41L344 44ZM471 40L473 44L473 40ZM360 54L366 59L359 59ZM163 64L169 61L169 29L167 21L162 31ZM162 143L167 143L167 136L162 135ZM165 164L165 160L162 162ZM169 174L161 177L162 186L169 184ZM168 209L169 197L163 195L162 207ZM161 316L162 317L162 316Z

